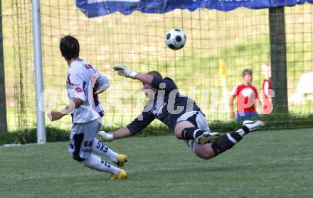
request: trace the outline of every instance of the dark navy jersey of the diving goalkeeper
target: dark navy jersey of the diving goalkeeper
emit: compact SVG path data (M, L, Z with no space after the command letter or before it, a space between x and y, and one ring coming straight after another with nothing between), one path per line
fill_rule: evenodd
M181 115L189 111L200 110L191 98L179 94L177 85L171 78L154 77L152 87L157 89L154 98L148 101L142 114L127 125L132 134L143 130L154 119L160 120L174 131L176 120Z

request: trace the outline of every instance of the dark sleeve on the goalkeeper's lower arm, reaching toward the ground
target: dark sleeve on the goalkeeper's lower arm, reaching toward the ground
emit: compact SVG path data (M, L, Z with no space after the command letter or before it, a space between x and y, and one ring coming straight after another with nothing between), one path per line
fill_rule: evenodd
M127 128L129 132L136 134L152 123L153 120L154 117L149 112L142 112L142 114L135 118L132 123L127 125Z

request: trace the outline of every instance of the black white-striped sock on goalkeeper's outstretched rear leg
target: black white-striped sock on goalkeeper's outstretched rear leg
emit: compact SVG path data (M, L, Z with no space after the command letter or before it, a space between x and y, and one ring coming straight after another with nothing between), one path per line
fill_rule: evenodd
M212 148L216 155L225 152L226 150L232 148L235 144L237 144L240 140L243 139L243 136L246 135L250 130L243 126L239 130L235 132L227 133L226 135L222 135L219 140L212 143Z

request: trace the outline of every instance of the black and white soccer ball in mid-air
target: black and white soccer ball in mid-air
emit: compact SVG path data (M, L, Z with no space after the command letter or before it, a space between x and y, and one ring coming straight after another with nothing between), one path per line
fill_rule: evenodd
M174 28L166 33L164 41L169 48L178 50L185 46L186 35L181 29Z

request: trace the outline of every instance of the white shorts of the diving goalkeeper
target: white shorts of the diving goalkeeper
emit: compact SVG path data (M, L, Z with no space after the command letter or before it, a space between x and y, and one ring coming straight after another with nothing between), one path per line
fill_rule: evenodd
M201 130L205 130L210 132L210 127L208 127L208 121L206 120L206 117L201 111L190 111L187 113L184 113L177 119L176 123L179 123L181 121L189 121L191 122L195 127L198 127ZM193 151L193 145L195 144L194 140L184 140L186 144L189 146L189 148Z

